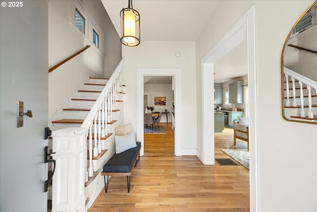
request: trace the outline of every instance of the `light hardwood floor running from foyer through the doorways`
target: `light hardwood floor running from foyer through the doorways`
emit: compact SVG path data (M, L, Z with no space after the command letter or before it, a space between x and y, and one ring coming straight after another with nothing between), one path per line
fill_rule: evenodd
M166 134L145 134L144 156L126 177L113 177L90 212L248 212L249 170L243 166L203 165L196 156L174 155L171 123ZM220 148L247 148L233 130L215 134L215 157L229 158Z

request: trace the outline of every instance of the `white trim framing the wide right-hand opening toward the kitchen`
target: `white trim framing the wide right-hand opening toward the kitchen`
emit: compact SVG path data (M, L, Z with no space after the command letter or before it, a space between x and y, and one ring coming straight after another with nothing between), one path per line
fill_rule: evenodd
M250 211L258 211L258 166L257 166L257 108L256 108L256 38L255 38L255 6L253 5L239 21L225 34L225 36L211 49L211 51L202 60L202 117L211 117L203 119L203 155L204 164L214 163L214 155L211 157L210 152L214 151L214 132L206 132L213 129L214 117L210 114L210 108L213 108L213 94L206 95L209 90L213 90L212 64L216 59L229 52L230 46L241 41L241 31L244 26L247 29L248 45L248 84L250 100ZM209 92L210 93L210 92ZM211 92L213 93L213 92Z

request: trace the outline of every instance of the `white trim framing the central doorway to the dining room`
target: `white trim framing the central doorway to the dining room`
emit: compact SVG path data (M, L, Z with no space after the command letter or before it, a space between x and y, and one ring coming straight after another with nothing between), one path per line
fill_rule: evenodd
M175 149L176 156L182 155L182 77L181 69L137 69L136 86L137 86L137 141L142 144L140 154L144 154L144 131L143 131L143 96L144 96L144 76L175 76Z

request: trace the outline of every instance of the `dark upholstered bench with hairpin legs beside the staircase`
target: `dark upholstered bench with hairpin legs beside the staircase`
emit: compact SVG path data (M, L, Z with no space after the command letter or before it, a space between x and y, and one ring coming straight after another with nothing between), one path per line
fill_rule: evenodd
M140 160L141 142L136 142L136 147L130 148L121 153L115 153L106 162L101 175L105 179L105 192L108 191L109 176L127 176L128 193L130 192L130 179L133 167L136 167ZM107 180L106 180L107 177Z

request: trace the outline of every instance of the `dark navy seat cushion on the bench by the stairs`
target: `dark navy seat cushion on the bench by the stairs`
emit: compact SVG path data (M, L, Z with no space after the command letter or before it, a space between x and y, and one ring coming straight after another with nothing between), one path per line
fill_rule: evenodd
M141 142L119 154L114 154L104 165L103 172L130 172L141 149Z

